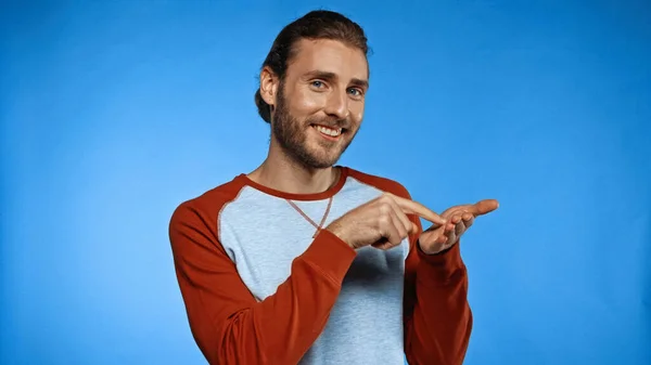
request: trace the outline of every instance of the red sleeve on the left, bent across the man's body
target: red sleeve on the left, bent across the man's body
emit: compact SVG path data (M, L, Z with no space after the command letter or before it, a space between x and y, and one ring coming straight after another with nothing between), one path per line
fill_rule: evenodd
M177 208L169 239L192 335L210 364L296 364L326 326L356 253L328 231L258 302L218 240L216 201ZM206 208L209 207L209 208Z

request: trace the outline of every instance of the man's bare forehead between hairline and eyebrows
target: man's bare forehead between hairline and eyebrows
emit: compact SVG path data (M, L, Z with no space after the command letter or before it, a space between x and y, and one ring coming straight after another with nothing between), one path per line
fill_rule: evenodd
M288 75L301 76L319 70L332 73L339 78L367 80L368 61L357 48L330 39L301 39L296 44Z

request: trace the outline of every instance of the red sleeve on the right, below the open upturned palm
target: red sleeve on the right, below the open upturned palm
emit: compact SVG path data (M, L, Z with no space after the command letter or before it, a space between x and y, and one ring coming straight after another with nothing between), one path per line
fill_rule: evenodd
M407 195L408 196L408 195ZM420 219L410 217L422 231ZM461 365L472 330L468 274L459 243L424 253L410 237L405 263L405 353L410 365Z

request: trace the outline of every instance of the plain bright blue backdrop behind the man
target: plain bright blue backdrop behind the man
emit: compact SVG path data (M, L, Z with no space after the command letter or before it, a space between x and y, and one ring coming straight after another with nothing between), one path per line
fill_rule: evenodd
M253 170L253 94L308 1L3 2L2 364L204 364L167 237ZM465 364L651 363L651 5L339 1L367 30L365 125L341 164L467 234Z

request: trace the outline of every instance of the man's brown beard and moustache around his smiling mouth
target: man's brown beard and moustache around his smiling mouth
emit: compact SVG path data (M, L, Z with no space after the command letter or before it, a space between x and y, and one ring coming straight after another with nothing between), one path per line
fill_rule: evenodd
M271 138L278 142L292 160L303 167L308 169L332 167L348 148L357 133L352 130L352 123L347 119L339 118L310 118L302 122L290 113L282 89L281 84L271 122ZM337 141L320 139L317 143L312 143L314 145L309 145L307 133L309 128L314 128L311 125L345 128L345 131L342 131Z

